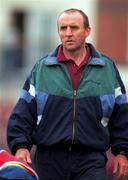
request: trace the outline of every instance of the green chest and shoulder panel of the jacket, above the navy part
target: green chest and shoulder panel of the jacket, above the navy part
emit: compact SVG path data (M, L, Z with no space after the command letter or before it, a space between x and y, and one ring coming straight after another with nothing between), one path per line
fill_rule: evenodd
M57 63L55 58L56 63L48 64L49 59L46 57L36 67L36 77L34 77L36 90L72 98L73 88L65 64ZM99 61L99 64L95 61ZM80 80L77 97L114 94L118 86L115 80L116 73L110 60L104 57L91 58Z

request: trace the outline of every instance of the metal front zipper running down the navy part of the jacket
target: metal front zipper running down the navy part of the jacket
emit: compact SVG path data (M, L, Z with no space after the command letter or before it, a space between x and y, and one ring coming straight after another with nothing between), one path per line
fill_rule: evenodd
M77 95L77 90L73 90L73 123L72 123L72 139L71 139L71 144L69 151L72 150L72 145L74 144L75 141L75 130L76 130L76 95Z

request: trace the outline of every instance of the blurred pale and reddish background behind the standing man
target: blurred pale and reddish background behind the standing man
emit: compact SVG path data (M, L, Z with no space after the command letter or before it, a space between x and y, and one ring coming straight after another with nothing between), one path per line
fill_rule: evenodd
M56 20L65 9L89 17L87 39L114 59L128 92L128 0L0 0L0 146L6 126L35 62L60 43Z

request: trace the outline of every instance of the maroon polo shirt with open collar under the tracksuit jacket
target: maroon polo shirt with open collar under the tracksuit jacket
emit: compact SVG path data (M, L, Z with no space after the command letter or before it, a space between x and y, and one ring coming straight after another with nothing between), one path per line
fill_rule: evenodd
M88 62L89 57L90 57L90 49L87 45L86 45L86 50L87 50L86 56L84 57L81 64L78 66L75 63L75 61L73 61L72 59L67 59L65 57L65 55L63 53L62 45L60 45L59 49L58 49L57 60L58 60L58 62L64 62L66 64L68 72L69 72L71 80L72 80L73 89L75 89L75 90L78 88L81 75L82 75L83 70Z

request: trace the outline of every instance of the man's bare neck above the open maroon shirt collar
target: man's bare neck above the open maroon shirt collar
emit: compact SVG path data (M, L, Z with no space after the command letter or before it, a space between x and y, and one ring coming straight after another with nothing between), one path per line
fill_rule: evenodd
M77 51L67 51L63 48L63 53L67 59L72 59L78 66L83 61L84 57L86 56L86 48L85 46Z

